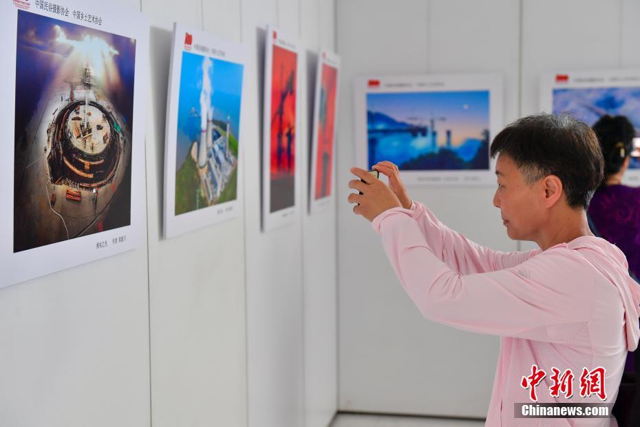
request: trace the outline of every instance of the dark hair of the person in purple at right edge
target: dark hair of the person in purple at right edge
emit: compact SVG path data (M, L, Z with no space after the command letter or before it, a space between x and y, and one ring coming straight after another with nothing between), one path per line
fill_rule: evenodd
M604 178L617 174L633 149L635 129L625 116L602 116L593 125L604 157Z

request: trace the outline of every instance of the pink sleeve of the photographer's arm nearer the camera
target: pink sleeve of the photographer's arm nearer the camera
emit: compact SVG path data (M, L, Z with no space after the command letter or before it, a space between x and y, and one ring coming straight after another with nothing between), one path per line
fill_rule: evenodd
M548 249L515 267L460 275L436 256L407 209L385 211L375 226L398 279L428 319L510 337L535 337L540 331L535 339L547 340L544 326L590 318L593 276L566 247Z

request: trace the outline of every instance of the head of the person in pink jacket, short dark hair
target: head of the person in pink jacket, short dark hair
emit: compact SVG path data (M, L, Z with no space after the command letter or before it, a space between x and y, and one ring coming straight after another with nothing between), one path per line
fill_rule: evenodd
M567 114L536 114L511 123L491 143L495 156L493 205L513 239L538 241L545 229L584 215L603 177L595 133Z

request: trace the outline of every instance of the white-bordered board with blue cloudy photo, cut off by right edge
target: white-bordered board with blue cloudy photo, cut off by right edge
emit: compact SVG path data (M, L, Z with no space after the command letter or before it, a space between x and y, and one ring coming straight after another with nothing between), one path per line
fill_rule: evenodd
M540 79L540 109L570 113L593 126L606 114L626 116L636 131L634 151L640 147L640 70L549 72ZM640 185L640 158L632 156L622 182Z

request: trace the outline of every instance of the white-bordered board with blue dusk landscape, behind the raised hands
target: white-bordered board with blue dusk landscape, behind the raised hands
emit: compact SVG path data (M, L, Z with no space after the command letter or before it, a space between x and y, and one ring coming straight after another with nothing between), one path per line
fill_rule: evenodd
M360 77L354 108L359 167L389 160L407 185L495 185L500 74Z

